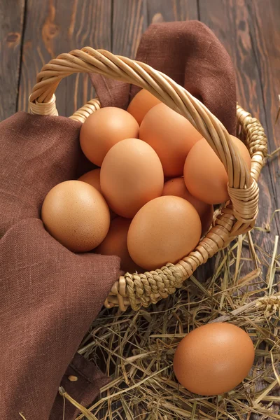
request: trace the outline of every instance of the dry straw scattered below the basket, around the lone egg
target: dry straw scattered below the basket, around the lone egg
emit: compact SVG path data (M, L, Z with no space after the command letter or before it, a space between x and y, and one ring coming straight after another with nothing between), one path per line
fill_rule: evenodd
M272 255L260 246L263 235L274 242ZM83 414L78 419L280 419L277 245L278 237L255 228L157 305L124 314L104 309L79 352L106 370L111 382L89 410L80 407ZM200 397L179 386L172 360L187 332L216 321L248 332L255 344L255 363L230 393Z

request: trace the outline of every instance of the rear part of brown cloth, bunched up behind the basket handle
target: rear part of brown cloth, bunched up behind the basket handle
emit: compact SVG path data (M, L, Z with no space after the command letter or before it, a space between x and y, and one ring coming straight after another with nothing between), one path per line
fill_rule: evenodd
M137 61L167 74L200 99L225 125L236 133L235 71L228 52L202 22L158 23L141 38ZM139 87L90 74L102 106L127 109Z

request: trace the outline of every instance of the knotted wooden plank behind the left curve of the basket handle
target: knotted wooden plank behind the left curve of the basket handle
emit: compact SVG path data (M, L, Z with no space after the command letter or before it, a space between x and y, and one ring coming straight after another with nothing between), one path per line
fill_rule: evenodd
M111 0L27 0L19 109L27 111L31 87L43 64L85 45L111 49ZM59 115L70 116L93 96L87 75L62 80L56 94Z

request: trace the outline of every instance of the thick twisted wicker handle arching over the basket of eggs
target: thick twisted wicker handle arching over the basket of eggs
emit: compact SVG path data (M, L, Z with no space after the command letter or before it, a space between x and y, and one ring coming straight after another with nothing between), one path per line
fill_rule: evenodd
M251 225L258 214L258 185L239 155L230 134L204 104L164 73L148 64L90 47L51 59L38 73L29 97L31 113L58 115L55 90L62 78L73 73L99 73L132 83L151 92L160 101L187 118L202 134L228 173L228 193L239 224Z

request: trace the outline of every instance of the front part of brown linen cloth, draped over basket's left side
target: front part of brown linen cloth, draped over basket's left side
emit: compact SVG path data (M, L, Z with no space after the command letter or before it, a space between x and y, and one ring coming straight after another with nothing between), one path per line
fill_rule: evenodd
M63 375L66 391L84 405L106 381L92 363L73 356L118 279L119 258L72 253L39 218L46 193L76 178L79 131L80 123L69 118L27 113L0 124L0 413L5 419L20 419L19 412L27 420L49 419ZM69 381L69 374L78 381ZM75 413L66 402L65 419ZM57 396L50 418L62 414Z

